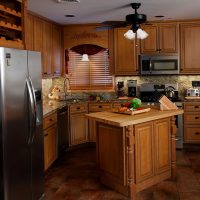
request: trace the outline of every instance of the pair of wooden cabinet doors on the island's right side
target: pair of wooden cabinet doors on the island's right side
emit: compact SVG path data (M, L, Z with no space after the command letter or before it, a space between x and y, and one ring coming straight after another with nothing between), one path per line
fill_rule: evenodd
M136 182L150 180L170 170L170 119L165 118L135 126Z

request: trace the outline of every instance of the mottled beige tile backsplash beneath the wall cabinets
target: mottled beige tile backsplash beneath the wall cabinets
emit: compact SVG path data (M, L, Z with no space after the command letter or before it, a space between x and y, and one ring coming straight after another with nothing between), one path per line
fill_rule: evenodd
M167 83L178 83L178 90L180 97L184 97L185 90L192 86L192 81L200 80L200 75L162 75L162 76L117 76L115 77L115 87L118 81L124 81L125 93L127 94L127 80L137 80L137 95L140 93L140 86L143 83L153 83L153 84L167 84ZM47 97L48 93L51 91L52 87L57 85L61 92L63 92L63 82L64 78L53 78L53 79L43 79L42 88L43 96ZM77 93L79 98L87 98L91 93ZM94 93L92 93L94 94ZM97 93L95 93L97 95ZM116 93L99 93L100 96L104 98L116 97Z

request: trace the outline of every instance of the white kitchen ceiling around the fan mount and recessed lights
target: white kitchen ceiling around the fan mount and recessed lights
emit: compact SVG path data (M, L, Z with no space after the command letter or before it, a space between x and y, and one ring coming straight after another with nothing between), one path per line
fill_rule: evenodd
M139 14L147 19L164 15L163 20L200 19L200 0L80 0L80 3L57 3L56 0L28 0L28 10L60 24L100 23L103 21L124 21L134 10L126 5L140 2ZM64 15L72 14L74 18ZM159 19L160 20L160 19Z

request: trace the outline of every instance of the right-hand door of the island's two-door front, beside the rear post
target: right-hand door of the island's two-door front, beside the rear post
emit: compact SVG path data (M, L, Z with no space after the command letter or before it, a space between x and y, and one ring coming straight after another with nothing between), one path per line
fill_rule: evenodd
M155 173L160 174L170 169L171 138L170 119L162 119L154 122L155 137Z

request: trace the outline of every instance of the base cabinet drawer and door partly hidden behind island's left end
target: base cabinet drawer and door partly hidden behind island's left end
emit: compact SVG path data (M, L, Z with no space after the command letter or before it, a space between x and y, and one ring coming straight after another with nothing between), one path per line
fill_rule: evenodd
M88 110L89 113L92 112L101 112L105 110L110 110L112 108L112 103L104 103L104 102L98 102L98 103L89 103ZM95 120L90 119L89 120L89 142L96 142L96 125Z

